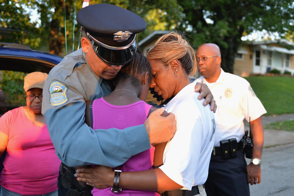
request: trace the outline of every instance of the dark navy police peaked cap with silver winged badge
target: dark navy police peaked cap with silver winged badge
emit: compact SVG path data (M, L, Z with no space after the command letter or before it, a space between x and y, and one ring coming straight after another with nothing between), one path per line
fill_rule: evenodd
M82 8L77 22L85 29L97 56L114 65L132 60L137 48L135 35L146 29L145 20L137 14L105 3Z

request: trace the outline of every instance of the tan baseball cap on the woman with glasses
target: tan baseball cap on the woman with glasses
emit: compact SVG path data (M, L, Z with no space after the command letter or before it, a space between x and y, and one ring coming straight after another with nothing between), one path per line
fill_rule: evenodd
M48 76L47 73L43 73L40 71L29 73L27 76L25 76L25 83L24 83L25 91L28 91L32 88L43 89L47 76Z

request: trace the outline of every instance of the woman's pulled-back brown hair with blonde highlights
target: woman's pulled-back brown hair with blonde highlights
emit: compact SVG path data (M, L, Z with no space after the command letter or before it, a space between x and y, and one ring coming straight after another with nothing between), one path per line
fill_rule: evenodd
M196 57L193 48L183 35L171 32L161 36L147 53L148 60L158 60L166 66L172 60L179 60L187 75L197 73Z

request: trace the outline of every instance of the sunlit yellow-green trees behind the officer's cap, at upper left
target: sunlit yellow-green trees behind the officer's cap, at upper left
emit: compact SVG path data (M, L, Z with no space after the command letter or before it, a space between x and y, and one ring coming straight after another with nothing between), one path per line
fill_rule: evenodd
M25 44L33 49L64 56L66 44L67 53L77 49L80 26L76 22L75 13L82 8L82 3L82 0L2 0L0 27L13 29L13 36L0 37L0 41ZM181 13L181 7L176 0L90 1L90 4L95 3L117 5L143 17L149 29L141 33L138 40L151 33L152 29L174 28L175 23L181 18L180 15L175 14ZM30 22L29 9L37 9L40 23ZM74 49L73 45L75 45Z

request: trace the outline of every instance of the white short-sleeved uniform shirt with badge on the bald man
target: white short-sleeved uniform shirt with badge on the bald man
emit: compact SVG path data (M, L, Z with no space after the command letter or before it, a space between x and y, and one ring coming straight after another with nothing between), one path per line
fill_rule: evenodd
M237 75L221 69L215 83L208 83L203 76L194 82L206 84L217 104L214 146L220 146L221 140L230 138L236 138L239 142L244 136L244 117L249 122L249 117L254 121L266 113L249 82Z

